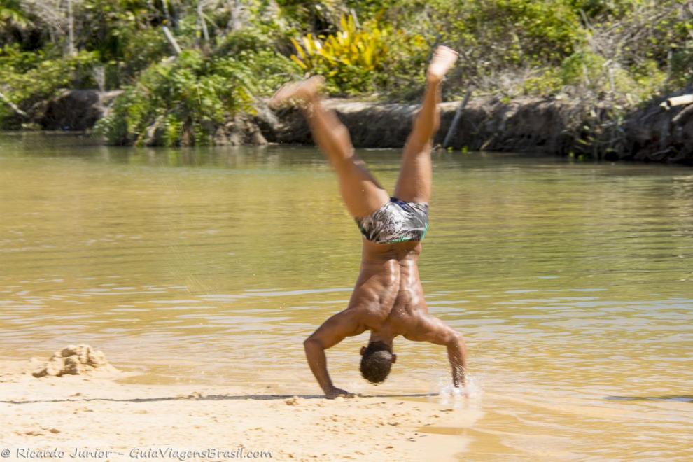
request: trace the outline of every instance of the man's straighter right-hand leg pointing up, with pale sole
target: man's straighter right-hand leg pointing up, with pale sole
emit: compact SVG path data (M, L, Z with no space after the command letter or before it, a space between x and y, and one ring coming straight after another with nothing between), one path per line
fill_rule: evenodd
M402 154L402 168L395 187L395 197L407 202L430 200L431 166L430 150L433 135L440 125L440 82L457 60L457 53L440 46L426 73L426 91L423 93L421 110L416 114L412 133L409 134Z

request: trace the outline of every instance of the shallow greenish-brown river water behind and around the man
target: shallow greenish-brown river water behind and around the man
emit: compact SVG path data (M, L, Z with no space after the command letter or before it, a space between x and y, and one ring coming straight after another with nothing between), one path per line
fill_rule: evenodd
M398 152L360 154L391 188ZM434 172L421 277L467 338L477 418L430 432L479 458L693 457L693 170L440 153ZM137 381L316 393L301 342L359 258L315 149L0 136L7 358L89 343ZM444 349L396 339L366 385L365 339L328 353L337 386L447 384Z

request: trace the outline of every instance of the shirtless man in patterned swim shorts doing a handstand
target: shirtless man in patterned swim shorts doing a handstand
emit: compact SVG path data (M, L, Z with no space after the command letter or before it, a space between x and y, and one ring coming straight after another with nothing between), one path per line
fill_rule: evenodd
M393 339L447 346L452 381L463 386L466 350L457 332L428 314L423 300L417 262L421 239L428 230L428 200L431 186L430 151L440 123L437 104L440 83L457 60L457 53L440 46L426 73L423 106L414 119L412 133L402 155L402 168L390 197L354 153L346 127L336 114L321 104L323 78L311 77L282 87L270 106L298 102L308 120L313 138L339 177L339 190L346 209L363 235L360 274L349 306L330 317L304 342L311 371L326 398L349 396L332 384L325 350L344 337L370 330L368 346L361 347L361 374L372 383L384 381L397 356Z

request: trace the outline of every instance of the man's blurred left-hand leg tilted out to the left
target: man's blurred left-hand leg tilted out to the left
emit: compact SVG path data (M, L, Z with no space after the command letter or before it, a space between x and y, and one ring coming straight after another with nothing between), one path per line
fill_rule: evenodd
M323 106L319 93L321 85L319 77L288 85L277 92L270 104L281 104L287 99L302 102L301 111L310 125L313 139L337 172L346 209L357 218L368 216L386 204L390 196L354 153L349 131L335 111Z

